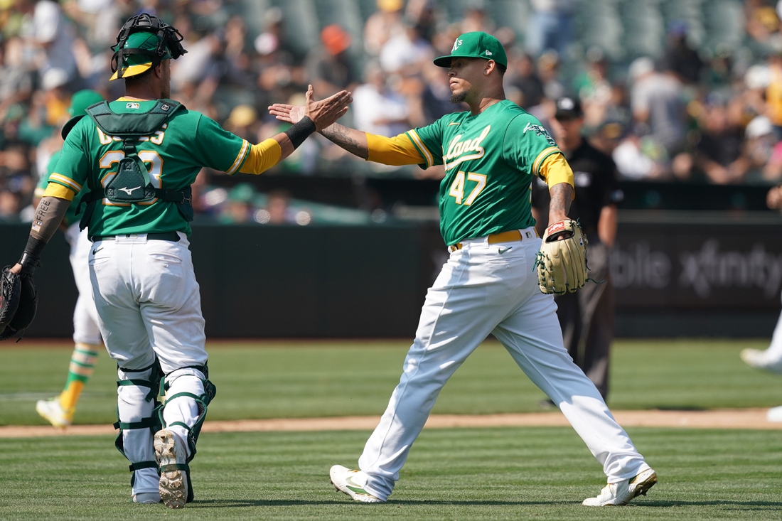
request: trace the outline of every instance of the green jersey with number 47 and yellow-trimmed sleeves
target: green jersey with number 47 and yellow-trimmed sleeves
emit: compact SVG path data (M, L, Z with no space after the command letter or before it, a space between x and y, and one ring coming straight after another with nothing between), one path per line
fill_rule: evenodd
M442 164L440 232L447 245L535 224L530 183L548 156L560 153L540 121L504 99L473 116L447 114L407 131L422 168Z

